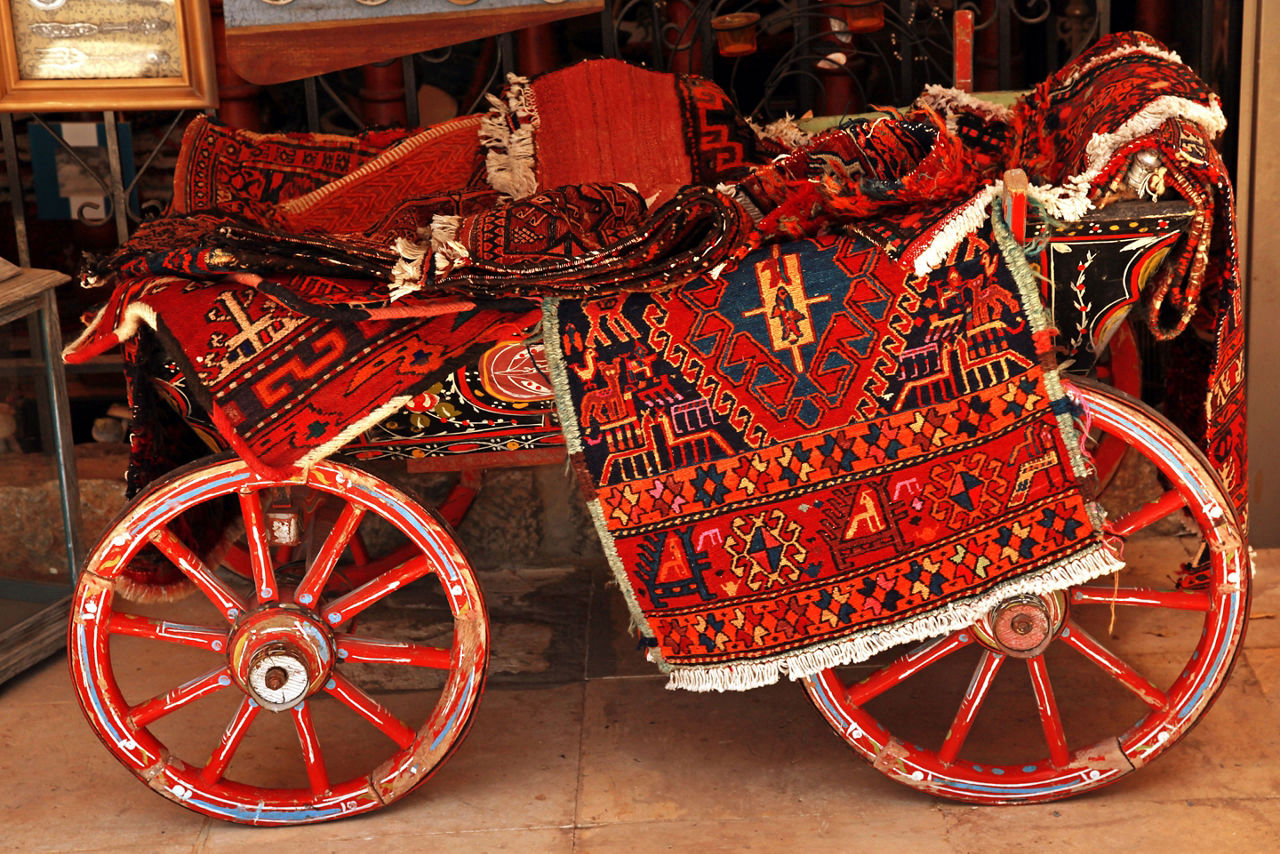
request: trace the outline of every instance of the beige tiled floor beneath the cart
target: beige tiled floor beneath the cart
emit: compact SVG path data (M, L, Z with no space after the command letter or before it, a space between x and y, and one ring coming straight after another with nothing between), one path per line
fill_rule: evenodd
M495 673L462 748L398 804L330 825L247 828L156 796L96 741L65 662L49 661L0 686L0 850L1239 853L1280 842L1280 551L1260 556L1231 681L1181 744L1100 793L1005 808L943 803L882 777L794 684L664 690L617 627L616 590L538 572L541 584L485 579L499 600ZM548 581L554 595L539 594ZM520 652L531 643L549 665ZM145 656L137 666L156 667Z

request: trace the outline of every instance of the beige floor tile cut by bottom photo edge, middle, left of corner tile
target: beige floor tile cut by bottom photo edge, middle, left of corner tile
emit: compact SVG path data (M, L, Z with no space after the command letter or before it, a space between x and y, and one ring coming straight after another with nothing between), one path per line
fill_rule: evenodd
M918 804L902 813L864 810L850 802L840 813L771 816L744 821L636 822L585 827L577 832L577 854L649 854L650 851L804 851L805 854L943 854L941 813Z

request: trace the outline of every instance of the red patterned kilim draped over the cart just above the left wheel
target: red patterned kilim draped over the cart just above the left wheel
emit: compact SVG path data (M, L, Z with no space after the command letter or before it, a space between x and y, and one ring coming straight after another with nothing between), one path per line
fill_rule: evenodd
M84 359L155 329L221 439L259 470L306 465L479 357L521 338L536 303L422 302L419 316L332 320L301 315L230 279L133 279L72 346Z

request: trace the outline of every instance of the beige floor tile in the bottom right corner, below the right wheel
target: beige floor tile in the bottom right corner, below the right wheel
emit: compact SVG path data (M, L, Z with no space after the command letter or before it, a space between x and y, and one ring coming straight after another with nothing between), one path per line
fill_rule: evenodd
M1098 851L1270 851L1280 823L1275 802L1149 802L1112 787L1034 807L943 807L956 854L1033 846L1055 854Z

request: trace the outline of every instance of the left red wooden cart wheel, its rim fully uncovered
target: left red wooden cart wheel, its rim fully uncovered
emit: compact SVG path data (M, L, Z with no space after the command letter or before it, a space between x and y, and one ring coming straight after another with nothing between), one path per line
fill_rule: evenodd
M264 510L282 495L342 504L292 581L278 577ZM174 533L212 502L243 515L251 581L215 574ZM335 592L357 536L407 557ZM118 600L115 579L148 544L201 595L165 615ZM406 607L434 631L387 616ZM163 644L165 666L138 672L131 644ZM465 556L408 495L337 462L273 480L220 458L154 484L106 531L76 589L68 650L86 717L148 786L216 818L291 825L369 812L425 780L466 734L489 647ZM353 737L360 727L375 737Z

